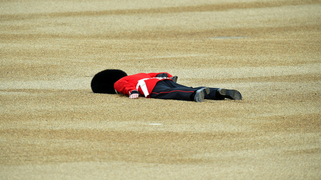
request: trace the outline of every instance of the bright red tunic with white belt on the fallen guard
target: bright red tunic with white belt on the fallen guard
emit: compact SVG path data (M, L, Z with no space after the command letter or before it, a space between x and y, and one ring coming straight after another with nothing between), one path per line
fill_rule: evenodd
M129 95L132 90L138 90L138 92L145 97L149 97L152 89L156 83L160 80L170 79L173 75L168 74L168 77L156 77L157 74L167 73L138 73L133 75L127 75L117 80L114 83L114 88L120 93ZM172 80L172 79L170 79ZM147 92L148 91L148 92Z

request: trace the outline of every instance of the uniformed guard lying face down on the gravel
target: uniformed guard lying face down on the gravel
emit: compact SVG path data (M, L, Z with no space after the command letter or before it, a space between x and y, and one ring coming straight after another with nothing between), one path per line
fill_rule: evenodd
M168 72L137 73L127 75L119 69L106 69L98 72L91 80L94 93L121 93L130 99L146 98L176 99L202 102L204 99L241 100L242 95L234 89L215 87L188 87L176 82L177 76Z

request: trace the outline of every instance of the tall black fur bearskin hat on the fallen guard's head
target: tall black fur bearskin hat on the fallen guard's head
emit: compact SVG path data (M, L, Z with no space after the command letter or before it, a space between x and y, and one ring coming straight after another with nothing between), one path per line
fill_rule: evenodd
M91 89L94 93L116 93L114 83L121 77L127 76L126 72L119 69L106 69L98 72L91 80Z

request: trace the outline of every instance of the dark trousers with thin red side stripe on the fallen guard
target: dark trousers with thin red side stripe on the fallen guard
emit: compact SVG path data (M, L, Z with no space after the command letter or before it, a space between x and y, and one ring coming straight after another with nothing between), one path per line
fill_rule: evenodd
M194 100L195 91L203 87L188 87L178 84L172 80L158 81L150 93L151 98L175 99L175 100ZM218 88L210 88L210 93L205 94L205 99L222 100L216 93Z

